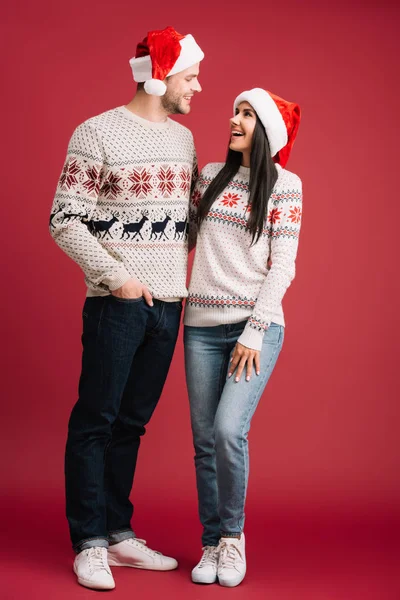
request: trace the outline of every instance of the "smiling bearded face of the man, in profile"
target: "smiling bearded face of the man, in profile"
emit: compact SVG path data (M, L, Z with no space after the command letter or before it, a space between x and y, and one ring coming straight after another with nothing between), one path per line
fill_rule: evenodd
M190 104L196 92L201 92L199 83L200 63L171 75L165 81L167 91L161 96L161 103L167 113L171 115L187 115L190 113Z

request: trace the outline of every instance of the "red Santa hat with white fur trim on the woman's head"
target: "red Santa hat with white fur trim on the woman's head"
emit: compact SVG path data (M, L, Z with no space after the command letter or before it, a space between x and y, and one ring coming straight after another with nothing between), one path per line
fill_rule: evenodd
M271 156L275 162L284 167L289 159L300 124L299 105L283 100L261 88L254 88L239 94L233 105L233 113L241 102L248 102L256 111L265 127Z

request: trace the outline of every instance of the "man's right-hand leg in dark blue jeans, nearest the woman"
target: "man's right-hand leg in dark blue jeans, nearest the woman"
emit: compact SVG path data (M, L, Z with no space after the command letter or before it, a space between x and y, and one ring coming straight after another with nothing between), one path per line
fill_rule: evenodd
M140 438L160 399L178 336L182 304L154 300L143 306L147 328L132 361L105 459L107 528L113 543L133 537L129 500Z

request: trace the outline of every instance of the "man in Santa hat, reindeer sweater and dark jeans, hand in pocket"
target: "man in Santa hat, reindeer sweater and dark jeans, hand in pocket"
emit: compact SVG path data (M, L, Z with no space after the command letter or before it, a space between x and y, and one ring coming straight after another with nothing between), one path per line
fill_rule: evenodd
M190 112L203 58L172 27L147 35L130 61L133 100L76 129L51 212L51 234L88 288L65 476L74 571L93 589L115 587L109 565L177 567L135 537L129 494L187 295L197 164L191 132L168 115Z

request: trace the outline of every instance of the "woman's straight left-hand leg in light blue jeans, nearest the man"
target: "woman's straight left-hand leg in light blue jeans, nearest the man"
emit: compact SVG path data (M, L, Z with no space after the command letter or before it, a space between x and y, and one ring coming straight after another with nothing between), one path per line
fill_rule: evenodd
M224 326L185 327L186 381L203 546L217 546L220 538L214 419L229 362L225 339Z

